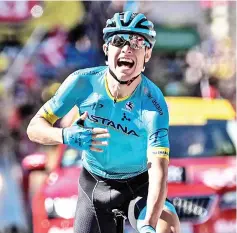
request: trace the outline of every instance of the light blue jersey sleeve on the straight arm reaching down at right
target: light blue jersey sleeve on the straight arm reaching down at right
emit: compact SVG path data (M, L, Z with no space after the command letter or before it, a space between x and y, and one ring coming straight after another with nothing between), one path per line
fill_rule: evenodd
M148 95L146 111L147 156L169 160L169 112L162 92Z

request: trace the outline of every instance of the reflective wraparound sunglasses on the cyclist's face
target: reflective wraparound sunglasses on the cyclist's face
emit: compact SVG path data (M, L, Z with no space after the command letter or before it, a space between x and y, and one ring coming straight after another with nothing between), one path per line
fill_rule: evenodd
M125 45L129 45L132 49L143 49L145 47L150 48L150 44L139 35L132 35L132 34L117 34L112 36L108 43L111 45L122 48Z

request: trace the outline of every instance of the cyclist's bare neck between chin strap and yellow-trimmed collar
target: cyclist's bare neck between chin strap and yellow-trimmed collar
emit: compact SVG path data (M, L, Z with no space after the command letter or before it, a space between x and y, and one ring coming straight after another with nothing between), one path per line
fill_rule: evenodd
M139 77L137 77L129 86L126 84L122 85L119 84L109 72L107 72L108 88L110 94L115 98L124 98L131 95L141 80L141 75L139 75Z

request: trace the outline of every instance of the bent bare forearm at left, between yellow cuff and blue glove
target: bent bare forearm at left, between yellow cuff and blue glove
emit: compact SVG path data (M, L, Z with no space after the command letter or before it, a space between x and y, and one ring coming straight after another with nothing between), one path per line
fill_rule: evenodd
M63 143L62 129L53 127L40 116L35 116L31 120L27 128L27 135L31 141L43 145L57 145Z

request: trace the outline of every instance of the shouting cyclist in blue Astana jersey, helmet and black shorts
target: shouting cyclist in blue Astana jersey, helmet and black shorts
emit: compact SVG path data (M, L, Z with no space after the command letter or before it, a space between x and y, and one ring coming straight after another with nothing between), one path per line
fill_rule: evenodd
M75 233L116 232L113 209L140 233L180 232L166 199L168 109L160 89L142 74L155 44L153 24L141 13L116 13L103 34L107 66L69 75L33 117L28 136L83 151ZM74 106L79 120L54 127Z

